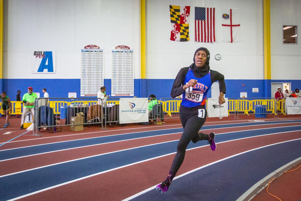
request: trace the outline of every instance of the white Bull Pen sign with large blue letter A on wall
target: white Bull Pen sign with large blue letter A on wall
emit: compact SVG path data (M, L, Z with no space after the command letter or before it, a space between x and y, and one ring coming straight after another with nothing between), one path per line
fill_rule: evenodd
M55 73L55 51L33 51L31 73Z

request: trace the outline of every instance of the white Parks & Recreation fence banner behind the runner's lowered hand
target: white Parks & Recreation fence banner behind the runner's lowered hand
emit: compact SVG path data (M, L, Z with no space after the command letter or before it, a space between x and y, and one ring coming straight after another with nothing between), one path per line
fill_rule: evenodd
M228 117L228 99L225 98L225 103L219 105L218 98L210 98L207 102L208 117Z

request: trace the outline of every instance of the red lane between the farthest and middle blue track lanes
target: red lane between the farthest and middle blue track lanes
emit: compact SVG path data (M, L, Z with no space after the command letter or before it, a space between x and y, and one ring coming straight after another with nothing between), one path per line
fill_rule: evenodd
M300 123L293 123L293 125L299 125ZM249 126L249 127L233 127L233 128L224 128L224 129L216 129L216 134L221 133L228 133L228 132L234 132L239 130L251 130L251 129L262 129L262 128L272 128L272 127L281 127L283 125L279 124L272 124L272 125L264 125L264 126ZM206 133L210 133L213 130L208 130ZM107 152L113 152L113 151L119 151L123 149L129 149L133 147L138 146L145 146L145 145L151 145L155 143L162 143L162 142L168 142L172 140L179 140L182 133L176 133L176 134L168 134L164 136L155 136L155 137L146 137L142 139L134 139L134 140L126 140L121 142L114 142L114 143L108 143L108 144L101 144L101 145L93 145L88 147L82 147L82 148L74 148L74 149L68 149L58 152L50 152L50 153L43 153L39 155L33 155L33 156L26 156L22 158L17 159L11 159L7 161L0 162L1 165L3 165L5 170L1 171L1 175L10 174L13 172L23 171L26 169L31 168L37 168L45 165L51 165L59 162L74 160L74 159L80 159L88 156L103 154ZM48 141L51 140L49 138L45 138L44 140ZM23 143L28 143L28 141L23 141ZM48 142L43 142L48 143ZM19 164L19 165L16 165Z

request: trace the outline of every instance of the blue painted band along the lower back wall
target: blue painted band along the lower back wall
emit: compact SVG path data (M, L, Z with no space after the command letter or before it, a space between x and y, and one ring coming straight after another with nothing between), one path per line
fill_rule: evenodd
M144 98L154 94L158 99L170 98L173 82L174 79L135 79L134 96ZM290 82L292 89L301 88L301 80L225 80L225 97L237 99L240 92L247 92L250 98L270 97L271 82ZM41 96L42 89L46 88L50 97L68 97L68 92L76 92L77 97L80 97L80 79L2 79L1 83L2 90L6 91L13 101L16 100L17 91L21 90L23 96L27 93L28 86L32 86L34 92L40 92ZM107 94L110 95L111 79L104 79L104 85L107 87ZM259 92L253 93L252 88L258 88ZM211 98L211 91L208 98Z

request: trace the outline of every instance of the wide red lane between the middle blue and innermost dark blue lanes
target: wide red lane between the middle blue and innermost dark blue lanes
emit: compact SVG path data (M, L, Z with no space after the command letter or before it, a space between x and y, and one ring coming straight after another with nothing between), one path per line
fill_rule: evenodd
M285 135L275 134L256 137L254 139L249 138L240 140L241 146L239 149L233 149L236 147L237 142L231 141L218 144L218 149L215 152L212 152L208 146L188 150L183 165L178 171L178 175L240 152L300 137L300 132ZM85 200L87 199L87 195L89 195L89 199L91 200L100 198L102 200L125 199L146 188L158 184L158 181L163 181L168 173L173 158L174 154L138 163L122 169L99 174L85 180L66 184L58 188L43 191L28 196L24 198L24 200ZM191 161L193 161L193 163L191 163ZM153 164L156 164L156 166ZM146 172L147 174L145 174ZM133 178L136 178L135 181L133 181Z

